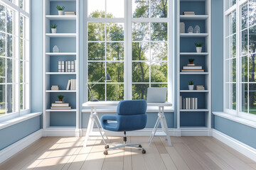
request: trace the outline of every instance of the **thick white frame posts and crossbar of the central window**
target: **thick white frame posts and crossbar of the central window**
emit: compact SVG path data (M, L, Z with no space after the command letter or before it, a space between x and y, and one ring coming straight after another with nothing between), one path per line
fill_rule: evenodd
M168 101L174 108L174 1L168 0L168 18L133 18L132 0L124 0L124 18L88 18L87 0L85 1L85 101L87 101L87 23L124 23L124 100L132 99L132 23L168 23ZM130 29L127 29L130 28ZM117 83L119 84L119 83ZM137 84L137 83L136 83ZM139 84L139 83L138 83ZM161 83L159 83L161 84Z

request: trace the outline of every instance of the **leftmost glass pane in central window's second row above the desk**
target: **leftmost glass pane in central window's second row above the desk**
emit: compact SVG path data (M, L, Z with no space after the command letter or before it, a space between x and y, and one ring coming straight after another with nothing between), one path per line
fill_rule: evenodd
M102 77L105 77L105 62L88 62L88 82L96 82Z

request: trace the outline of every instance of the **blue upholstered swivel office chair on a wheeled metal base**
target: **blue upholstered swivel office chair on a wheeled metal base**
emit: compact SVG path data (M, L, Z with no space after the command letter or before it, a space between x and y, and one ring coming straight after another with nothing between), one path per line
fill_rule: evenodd
M110 120L110 121L109 121ZM117 149L120 147L134 147L142 149L142 154L146 150L140 144L127 144L126 132L132 130L142 130L146 126L146 101L120 101L117 106L117 115L102 115L100 119L102 128L114 132L124 132L124 144L107 144L105 146L104 154L110 149ZM109 145L114 145L111 147Z

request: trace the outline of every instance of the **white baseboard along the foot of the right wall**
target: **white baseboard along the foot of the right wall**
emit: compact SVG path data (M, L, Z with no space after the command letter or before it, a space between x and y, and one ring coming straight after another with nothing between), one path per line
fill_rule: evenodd
M256 149L245 145L244 143L235 140L233 137L225 135L223 132L218 130L213 130L213 137L220 140L221 142L225 143L226 145L232 147L233 149L237 150L241 154L244 154L246 157L249 157L253 161L256 162Z

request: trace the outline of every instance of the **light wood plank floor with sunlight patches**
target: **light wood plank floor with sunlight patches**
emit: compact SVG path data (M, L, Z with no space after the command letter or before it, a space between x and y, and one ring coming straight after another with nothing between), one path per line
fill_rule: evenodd
M84 137L43 137L0 164L9 169L256 169L256 163L213 137L171 137L169 147L164 137L155 137L149 147L149 137L128 137L127 142L139 142L146 149L117 149L103 154L99 137L91 137L89 146L82 147ZM108 142L122 142L122 137L110 137Z

